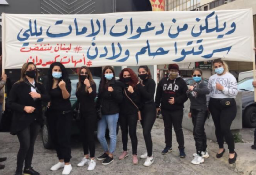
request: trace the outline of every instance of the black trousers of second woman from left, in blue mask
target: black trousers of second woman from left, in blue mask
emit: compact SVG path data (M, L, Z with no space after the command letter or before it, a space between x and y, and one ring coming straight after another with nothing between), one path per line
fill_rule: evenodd
M71 126L73 113L62 114L62 112L49 112L47 121L54 148L59 160L65 163L71 159Z

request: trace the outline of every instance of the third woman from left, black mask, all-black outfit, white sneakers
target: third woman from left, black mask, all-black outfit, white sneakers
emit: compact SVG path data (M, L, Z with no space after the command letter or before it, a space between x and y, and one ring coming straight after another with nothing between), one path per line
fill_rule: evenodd
M77 164L82 167L89 164L88 171L94 170L96 162L95 143L94 143L94 128L97 126L97 117L94 99L96 98L96 84L93 81L91 71L86 66L79 69L79 81L77 83L76 97L81 113L80 129L84 149L84 157ZM89 159L90 151L90 159Z

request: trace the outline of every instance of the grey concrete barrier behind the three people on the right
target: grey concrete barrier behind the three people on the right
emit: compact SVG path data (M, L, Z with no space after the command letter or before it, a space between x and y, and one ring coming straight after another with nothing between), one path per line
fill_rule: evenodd
M237 104L237 113L236 118L231 125L232 130L242 129L242 93L238 93L236 97L236 104ZM183 122L182 127L188 129L193 132L193 124L192 120L188 118L188 113L190 109L190 100L184 104L184 115L183 115ZM215 136L215 126L212 120L212 116L206 120L204 125L206 137L213 141L217 141Z

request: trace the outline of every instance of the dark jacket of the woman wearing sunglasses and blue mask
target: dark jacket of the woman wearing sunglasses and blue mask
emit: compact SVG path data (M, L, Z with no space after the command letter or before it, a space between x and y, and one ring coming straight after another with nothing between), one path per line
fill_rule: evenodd
M187 95L190 99L190 108L198 110L207 110L206 95L210 93L204 81L193 84L193 91L188 90Z

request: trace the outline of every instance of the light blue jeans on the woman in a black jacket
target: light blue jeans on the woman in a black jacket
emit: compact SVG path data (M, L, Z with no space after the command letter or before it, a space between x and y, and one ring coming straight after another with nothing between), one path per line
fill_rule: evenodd
M119 113L113 115L102 115L102 119L98 121L97 137L103 147L104 152L110 152L113 154L116 149L116 126ZM110 150L108 149L108 143L106 141L105 133L108 126L110 137Z

